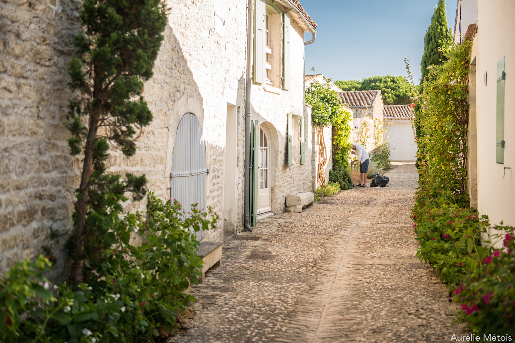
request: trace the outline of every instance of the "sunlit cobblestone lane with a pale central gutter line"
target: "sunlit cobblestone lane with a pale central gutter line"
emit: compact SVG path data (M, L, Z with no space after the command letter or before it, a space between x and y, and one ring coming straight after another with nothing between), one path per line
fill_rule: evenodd
M258 222L193 288L197 316L172 342L449 342L456 305L418 263L409 211L418 174L339 191Z

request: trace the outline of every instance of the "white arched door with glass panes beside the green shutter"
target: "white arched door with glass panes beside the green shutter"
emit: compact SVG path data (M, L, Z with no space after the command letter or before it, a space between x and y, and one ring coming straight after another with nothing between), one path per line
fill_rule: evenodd
M258 214L272 210L270 206L270 141L263 128L259 129L259 190Z

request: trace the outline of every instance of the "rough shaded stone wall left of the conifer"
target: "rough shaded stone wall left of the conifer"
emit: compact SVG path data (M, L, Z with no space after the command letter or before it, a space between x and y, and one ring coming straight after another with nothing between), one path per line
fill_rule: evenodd
M70 92L66 68L78 30L78 2L0 3L1 269L48 244L48 228L70 232L78 159L62 125ZM61 243L66 237L61 238ZM62 244L55 254L62 269Z

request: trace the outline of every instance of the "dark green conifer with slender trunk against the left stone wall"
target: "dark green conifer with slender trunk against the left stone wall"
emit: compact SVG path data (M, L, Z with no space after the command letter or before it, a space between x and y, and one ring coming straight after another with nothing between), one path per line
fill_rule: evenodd
M92 258L84 248L93 251L96 244L100 250L110 244L109 206L123 201L126 191L135 200L146 192L145 175L126 174L121 180L106 173L105 161L111 147L133 155L134 140L152 120L142 96L143 81L152 77L166 9L162 0L84 0L79 18L84 33L75 37L77 57L68 68L68 85L78 92L68 100L65 122L71 154L83 153L70 242L75 283L82 282L84 259Z

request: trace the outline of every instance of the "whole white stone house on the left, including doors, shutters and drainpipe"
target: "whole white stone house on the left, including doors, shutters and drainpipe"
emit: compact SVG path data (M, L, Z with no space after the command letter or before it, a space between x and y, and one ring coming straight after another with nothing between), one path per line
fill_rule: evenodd
M72 229L80 168L62 121L80 2L53 5L0 4L2 270L37 256L50 226ZM312 43L316 24L297 0L169 0L167 6L164 41L144 91L154 119L134 156L111 152L110 171L145 173L157 196L211 206L220 222L204 240L221 242L224 233L243 230L244 214L252 224L283 212L286 195L313 188L304 32L313 34ZM55 248L61 270L63 241Z

